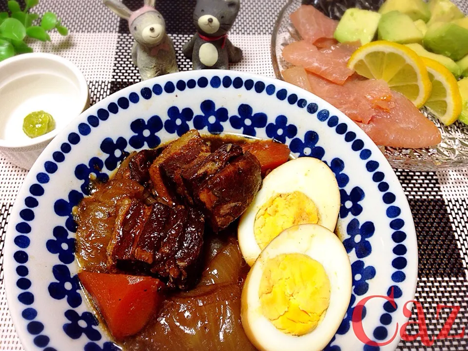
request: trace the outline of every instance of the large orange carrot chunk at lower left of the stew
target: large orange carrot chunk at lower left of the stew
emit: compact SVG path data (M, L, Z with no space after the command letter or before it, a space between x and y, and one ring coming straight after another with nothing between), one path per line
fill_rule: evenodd
M116 340L136 334L157 312L164 283L127 274L78 273Z

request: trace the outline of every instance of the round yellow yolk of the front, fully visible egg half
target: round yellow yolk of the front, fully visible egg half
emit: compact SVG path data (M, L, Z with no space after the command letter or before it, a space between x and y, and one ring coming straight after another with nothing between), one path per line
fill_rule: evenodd
M258 292L262 313L276 329L292 335L313 331L330 304L323 266L305 254L280 254L263 271Z

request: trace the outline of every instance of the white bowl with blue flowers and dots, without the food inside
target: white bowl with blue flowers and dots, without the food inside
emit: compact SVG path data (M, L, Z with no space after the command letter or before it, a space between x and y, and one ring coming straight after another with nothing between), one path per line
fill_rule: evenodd
M417 243L397 177L369 137L327 102L280 80L233 71L183 72L128 87L75 119L41 154L10 216L4 254L8 303L25 349L119 350L79 289L71 210L87 195L90 173L105 180L127 152L191 128L275 138L296 156L330 165L353 288L327 349L379 350L356 337L351 315L364 297L393 291L394 304L382 297L366 303L364 331L383 342L408 319L403 307L414 298ZM395 349L398 340L380 350Z

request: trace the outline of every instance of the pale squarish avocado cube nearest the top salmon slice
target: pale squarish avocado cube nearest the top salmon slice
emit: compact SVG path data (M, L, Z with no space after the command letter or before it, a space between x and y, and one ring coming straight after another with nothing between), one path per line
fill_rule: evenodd
M339 42L360 40L367 44L374 39L380 15L377 12L350 8L336 27L334 38Z

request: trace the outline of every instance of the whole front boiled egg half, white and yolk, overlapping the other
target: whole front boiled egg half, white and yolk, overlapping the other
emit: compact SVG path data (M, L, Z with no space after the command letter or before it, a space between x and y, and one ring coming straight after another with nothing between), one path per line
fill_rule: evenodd
M242 326L262 351L318 351L338 330L351 299L351 264L338 237L317 224L286 229L247 275Z

